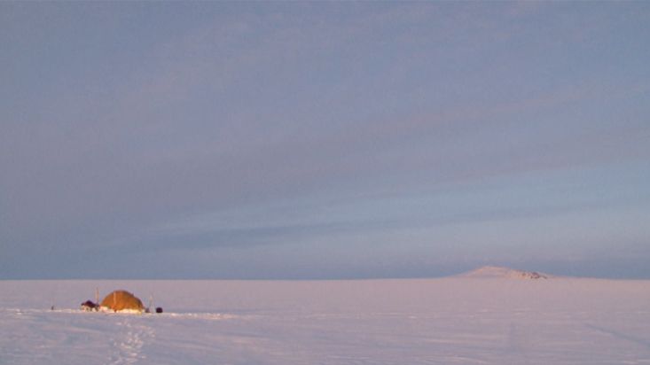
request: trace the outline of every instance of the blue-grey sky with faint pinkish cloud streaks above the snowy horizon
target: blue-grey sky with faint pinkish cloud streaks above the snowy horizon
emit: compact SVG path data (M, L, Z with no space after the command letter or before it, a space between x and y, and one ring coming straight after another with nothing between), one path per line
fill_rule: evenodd
M650 3L0 2L0 279L650 278Z

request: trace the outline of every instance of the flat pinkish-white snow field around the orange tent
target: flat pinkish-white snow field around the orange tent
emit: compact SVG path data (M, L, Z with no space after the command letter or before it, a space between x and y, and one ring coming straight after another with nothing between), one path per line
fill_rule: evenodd
M153 294L165 313L80 311L95 288ZM0 281L0 293L0 364L650 364L650 281Z

